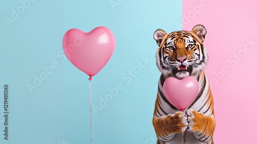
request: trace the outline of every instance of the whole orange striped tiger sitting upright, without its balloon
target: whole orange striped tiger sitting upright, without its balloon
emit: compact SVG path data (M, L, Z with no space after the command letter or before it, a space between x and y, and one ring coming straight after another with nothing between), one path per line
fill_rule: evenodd
M196 25L191 31L162 29L154 32L159 46L156 65L161 72L155 101L153 127L157 144L213 144L215 117L213 96L204 68L208 62L207 49L203 42L207 31ZM183 79L192 76L199 83L194 101L182 112L172 105L163 93L163 83L169 77Z

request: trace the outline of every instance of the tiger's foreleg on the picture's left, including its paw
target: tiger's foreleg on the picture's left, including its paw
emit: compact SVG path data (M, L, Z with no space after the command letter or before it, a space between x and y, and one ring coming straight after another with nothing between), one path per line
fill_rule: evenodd
M158 139L162 142L168 142L176 133L186 131L188 121L185 113L176 112L167 116L154 116L153 125Z

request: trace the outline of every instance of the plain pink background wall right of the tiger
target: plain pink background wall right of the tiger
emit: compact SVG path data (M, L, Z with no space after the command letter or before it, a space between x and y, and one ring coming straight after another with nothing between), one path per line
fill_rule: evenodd
M253 0L183 0L182 29L207 29L205 73L215 102L215 143L257 143L256 6Z

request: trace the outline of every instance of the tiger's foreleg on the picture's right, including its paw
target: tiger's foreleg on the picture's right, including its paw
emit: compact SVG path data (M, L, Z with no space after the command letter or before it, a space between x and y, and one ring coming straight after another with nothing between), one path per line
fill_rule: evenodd
M188 110L188 131L192 132L198 141L214 143L212 136L215 129L214 115L204 115L195 110Z

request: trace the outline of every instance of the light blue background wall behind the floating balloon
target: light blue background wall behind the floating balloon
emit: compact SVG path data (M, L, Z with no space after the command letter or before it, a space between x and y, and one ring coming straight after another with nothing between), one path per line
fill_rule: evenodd
M155 143L150 139L156 139L152 117L160 72L153 33L178 30L182 1L35 1L8 27L5 17L21 6L0 2L0 143L90 143L88 76L63 57L62 38L68 29L88 32L98 26L113 31L116 48L91 81L93 105L100 106L108 88L119 83L123 89L93 111L93 143ZM142 57L151 60L138 70ZM58 68L31 94L27 84L54 61ZM128 74L133 69L134 77ZM9 85L9 140L3 135L4 84Z

